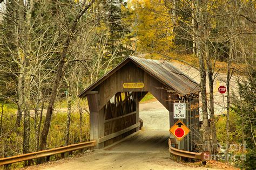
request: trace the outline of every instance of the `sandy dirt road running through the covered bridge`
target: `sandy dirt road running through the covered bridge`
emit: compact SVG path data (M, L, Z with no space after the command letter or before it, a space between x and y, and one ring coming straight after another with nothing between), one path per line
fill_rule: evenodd
M143 129L116 145L25 169L218 169L171 159L169 111L158 101L140 104L140 118Z

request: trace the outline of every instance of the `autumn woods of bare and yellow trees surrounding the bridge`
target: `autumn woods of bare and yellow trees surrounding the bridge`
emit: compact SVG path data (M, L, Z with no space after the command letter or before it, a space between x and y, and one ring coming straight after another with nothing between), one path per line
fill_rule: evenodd
M1 157L90 140L87 102L77 95L136 55L198 69L205 150L217 154L221 144L226 156L246 154L237 166L255 168L255 1L0 3ZM227 105L217 117L219 73L226 75ZM246 150L229 149L238 143Z

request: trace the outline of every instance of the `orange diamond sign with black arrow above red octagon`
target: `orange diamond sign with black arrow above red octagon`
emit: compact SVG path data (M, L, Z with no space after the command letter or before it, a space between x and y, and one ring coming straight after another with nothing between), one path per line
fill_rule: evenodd
M178 121L169 131L180 141L190 132L190 129L183 122Z

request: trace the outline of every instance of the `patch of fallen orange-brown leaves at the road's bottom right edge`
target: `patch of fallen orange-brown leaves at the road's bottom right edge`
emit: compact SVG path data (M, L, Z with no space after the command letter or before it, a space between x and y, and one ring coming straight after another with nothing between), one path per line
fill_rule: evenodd
M216 160L209 160L206 162L206 165L202 165L201 161L197 162L183 162L183 164L191 166L191 167L206 167L206 168L217 168L217 169L239 169L233 167L232 165L228 164L227 162L220 162Z

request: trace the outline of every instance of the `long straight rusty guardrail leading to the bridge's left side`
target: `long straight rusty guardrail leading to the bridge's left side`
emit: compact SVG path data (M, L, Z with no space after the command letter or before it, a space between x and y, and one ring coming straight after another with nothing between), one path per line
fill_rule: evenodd
M42 158L42 157L49 157L51 155L55 155L55 154L59 154L59 153L63 154L65 152L82 150L86 147L93 147L95 145L96 145L96 140L92 140L92 141L87 141L87 142L84 142L84 143L52 148L52 149L49 149L49 150L43 150L43 151L38 151L38 152L31 152L31 153L16 155L14 157L1 158L0 159L0 166L1 165L9 165L9 164L13 164L13 163L21 162L21 161L25 161L25 160L37 159L37 158ZM62 155L62 157L63 157L63 155Z

